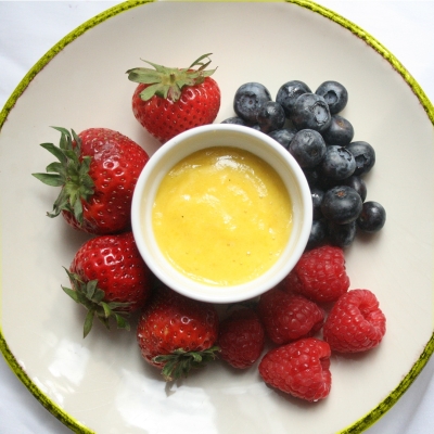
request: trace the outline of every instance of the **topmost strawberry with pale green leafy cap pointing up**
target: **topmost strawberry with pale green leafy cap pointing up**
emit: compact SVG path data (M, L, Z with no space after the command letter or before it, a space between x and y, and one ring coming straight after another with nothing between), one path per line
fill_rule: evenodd
M212 124L220 108L220 89L210 78L216 69L205 71L210 54L204 54L188 68L174 68L146 62L154 69L127 71L138 82L132 95L132 112L139 123L164 143L190 128ZM202 61L207 59L206 63ZM199 66L196 69L193 69Z

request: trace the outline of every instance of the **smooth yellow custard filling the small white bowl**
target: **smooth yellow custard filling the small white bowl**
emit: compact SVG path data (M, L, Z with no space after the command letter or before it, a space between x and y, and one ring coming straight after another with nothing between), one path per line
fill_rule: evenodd
M152 225L161 251L180 272L233 285L277 261L291 234L292 204L268 163L215 146L187 156L164 177Z

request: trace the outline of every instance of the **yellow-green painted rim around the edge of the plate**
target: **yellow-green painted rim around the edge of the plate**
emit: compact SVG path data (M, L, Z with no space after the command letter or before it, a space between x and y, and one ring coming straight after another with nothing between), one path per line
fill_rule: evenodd
M194 1L194 0L191 0ZM230 0L229 0L230 1ZM419 86L419 84L414 80L414 78L408 73L408 71L403 66L403 64L385 48L383 47L375 38L369 35L367 31L362 30L356 24L349 22L337 13L323 8L310 0L282 0L288 3L294 3L299 7L306 8L315 13L323 15L324 17L340 24L344 28L352 31L358 38L363 40L368 46L373 48L380 55L382 55L392 66L393 68L405 79L405 81L410 86L413 93L419 99L422 104L424 111L427 114L431 123L434 125L434 106ZM35 66L26 74L23 80L15 88L9 100L7 101L4 107L0 112L0 131L1 128L10 113L10 111L15 105L15 102L21 97L21 94L25 91L30 81L35 78L37 74L55 56L58 55L68 43L73 42L76 38L81 36L84 33L89 30L90 28L97 26L98 24L108 20L112 16L115 16L124 11L130 10L132 8L152 3L153 0L129 0L125 1L116 7L113 7L93 18L85 22L80 26L78 26L75 30L66 35L63 39L61 39L53 48L51 48L36 64ZM1 288L0 288L1 295ZM1 297L0 297L0 308L1 308ZM27 375L24 369L15 359L14 355L10 350L7 341L3 336L1 323L0 323L0 350L3 354L8 365L11 367L12 371L15 375L23 382L23 384L28 388L28 391L42 404L43 407L48 411L50 411L56 419L59 419L64 425L69 427L76 433L91 434L93 431L84 426L73 417L71 417L66 411L64 411L58 404L55 404L52 399L50 399L47 395L44 395L41 390L31 381L31 379ZM350 426L341 431L341 434L354 434L360 433L371 426L374 422L376 422L383 414L390 410L394 404L403 396L403 394L408 390L414 379L422 371L423 367L429 361L431 355L434 353L434 332L424 347L421 356L412 366L411 370L408 374L403 379L403 381L396 386L391 394L381 401L375 408L373 408L369 413L363 416L361 419L353 423Z

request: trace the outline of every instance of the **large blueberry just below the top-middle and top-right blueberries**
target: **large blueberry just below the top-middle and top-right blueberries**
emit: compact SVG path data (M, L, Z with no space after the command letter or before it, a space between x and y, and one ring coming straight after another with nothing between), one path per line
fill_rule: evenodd
M329 105L316 93L303 93L295 101L290 119L298 130L308 128L326 131L331 123Z

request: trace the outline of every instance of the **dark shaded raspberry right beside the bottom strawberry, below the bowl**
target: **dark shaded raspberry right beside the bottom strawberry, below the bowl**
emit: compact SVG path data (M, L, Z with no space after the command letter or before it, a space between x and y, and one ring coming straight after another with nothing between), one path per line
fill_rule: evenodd
M239 308L220 322L220 357L234 368L250 368L264 349L265 332L251 308Z

